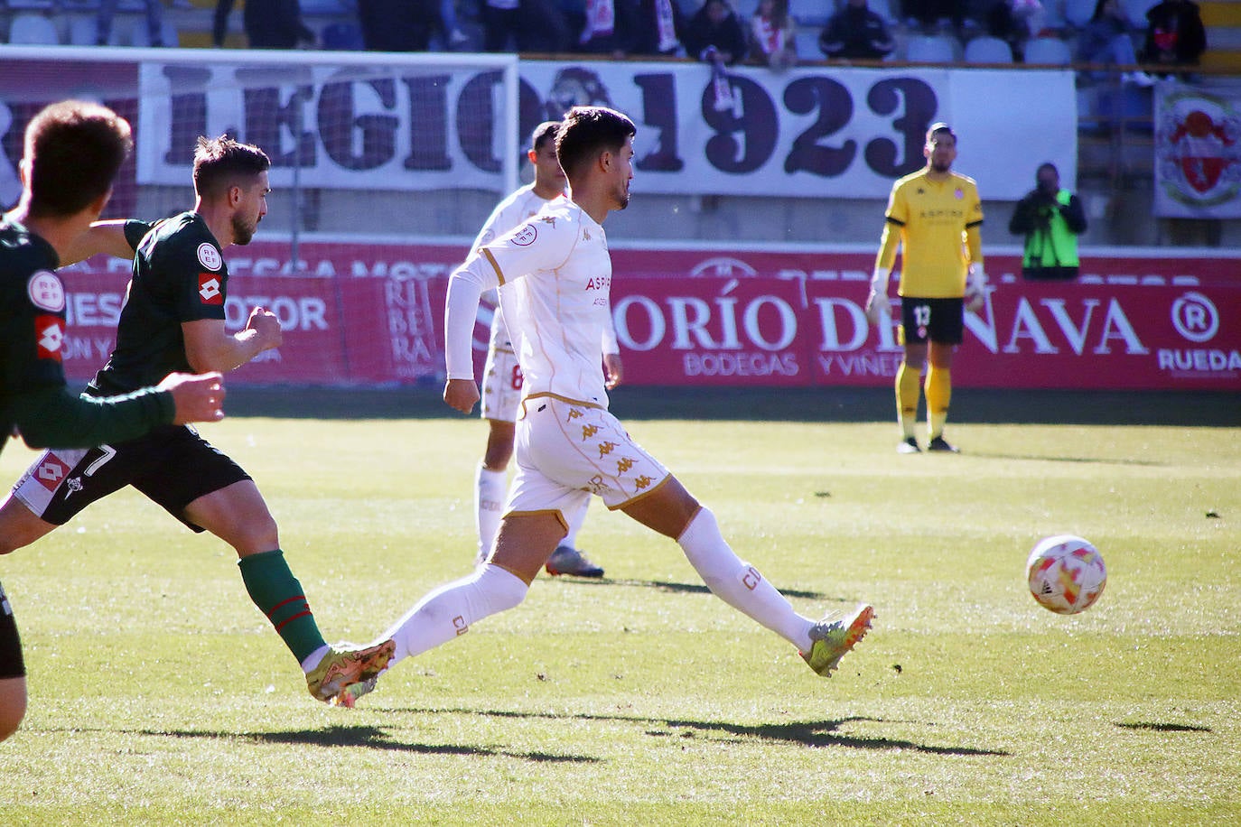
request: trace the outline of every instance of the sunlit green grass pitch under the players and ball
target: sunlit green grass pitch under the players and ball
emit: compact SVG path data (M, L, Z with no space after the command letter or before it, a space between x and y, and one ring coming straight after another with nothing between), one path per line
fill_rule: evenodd
M887 422L627 424L799 611L876 606L831 679L596 502L602 583L540 577L329 708L232 551L122 492L0 560L31 693L0 823L1241 823L1237 428L962 423L963 454L900 456ZM329 640L469 570L477 419L204 433ZM1062 532L1109 573L1067 617L1024 582Z

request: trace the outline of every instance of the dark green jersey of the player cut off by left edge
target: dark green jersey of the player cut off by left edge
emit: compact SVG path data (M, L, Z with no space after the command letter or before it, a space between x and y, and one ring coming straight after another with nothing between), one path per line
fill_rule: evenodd
M82 399L66 389L66 294L58 264L45 239L0 221L0 448L15 429L32 448L89 448L172 422L168 392Z

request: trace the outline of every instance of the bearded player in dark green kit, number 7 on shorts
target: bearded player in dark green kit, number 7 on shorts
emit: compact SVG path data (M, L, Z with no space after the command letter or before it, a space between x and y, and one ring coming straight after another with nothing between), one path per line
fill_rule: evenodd
M82 257L137 254L117 347L88 393L124 393L170 371L231 371L280 345L279 321L263 307L254 307L237 334L225 330L228 268L221 250L249 243L267 213L269 166L256 146L200 138L192 211L155 224L92 227L77 250ZM191 531L210 531L237 551L251 599L302 663L311 696L331 701L385 667L391 641L366 648L324 642L254 481L189 428L161 428L89 450L47 451L0 506L0 552L32 543L127 485Z

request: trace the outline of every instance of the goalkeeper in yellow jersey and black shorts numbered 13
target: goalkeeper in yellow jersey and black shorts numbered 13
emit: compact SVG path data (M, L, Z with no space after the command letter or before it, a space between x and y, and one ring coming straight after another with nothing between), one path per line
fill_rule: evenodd
M973 179L952 171L957 136L944 123L927 130L927 165L900 179L889 196L886 223L866 298L872 324L889 316L887 283L901 248L901 345L896 371L896 408L902 454L917 454L915 425L922 366L926 365L927 450L957 453L943 438L952 397L952 355L962 341L964 305L982 306L987 275L979 226L983 205Z

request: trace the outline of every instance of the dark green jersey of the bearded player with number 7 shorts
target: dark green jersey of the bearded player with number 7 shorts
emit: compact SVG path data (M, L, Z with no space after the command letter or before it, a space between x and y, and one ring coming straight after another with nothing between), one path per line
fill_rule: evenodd
M225 317L228 268L202 216L182 212L154 224L125 222L133 276L117 324L117 346L89 393L124 393L192 373L181 325Z

